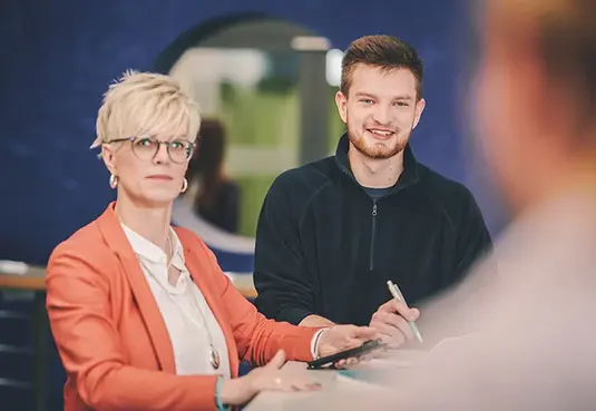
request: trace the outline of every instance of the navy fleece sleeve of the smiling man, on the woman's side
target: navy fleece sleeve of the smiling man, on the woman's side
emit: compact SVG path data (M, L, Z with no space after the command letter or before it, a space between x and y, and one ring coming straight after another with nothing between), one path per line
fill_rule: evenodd
M258 217L255 246L255 305L270 319L297 325L315 314L312 278L300 238L300 216L293 213L284 175L267 193Z

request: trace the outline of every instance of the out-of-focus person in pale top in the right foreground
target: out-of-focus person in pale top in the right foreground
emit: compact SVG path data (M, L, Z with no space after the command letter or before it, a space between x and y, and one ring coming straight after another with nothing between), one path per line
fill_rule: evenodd
M596 410L596 1L485 6L477 136L516 218L496 244L498 283L480 266L481 299L463 301L467 282L437 302L434 327L477 332L437 346L379 402Z

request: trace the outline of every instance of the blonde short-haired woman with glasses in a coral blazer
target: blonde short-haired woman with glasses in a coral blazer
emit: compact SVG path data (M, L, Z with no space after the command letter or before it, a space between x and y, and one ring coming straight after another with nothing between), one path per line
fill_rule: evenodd
M101 146L117 200L48 264L65 410L212 410L263 389L310 390L316 384L281 378L284 352L307 361L375 337L368 327L265 320L198 237L170 226L197 112L162 75L127 72L105 96L92 147ZM271 362L237 378L238 359Z

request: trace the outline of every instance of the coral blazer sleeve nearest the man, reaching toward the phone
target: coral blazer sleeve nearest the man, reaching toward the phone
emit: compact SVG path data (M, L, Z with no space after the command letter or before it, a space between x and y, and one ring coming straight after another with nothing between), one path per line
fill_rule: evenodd
M222 306L227 311L238 355L254 365L266 364L284 350L287 360L311 361L311 342L319 329L292 325L266 319L222 272L213 252L199 239L206 253Z

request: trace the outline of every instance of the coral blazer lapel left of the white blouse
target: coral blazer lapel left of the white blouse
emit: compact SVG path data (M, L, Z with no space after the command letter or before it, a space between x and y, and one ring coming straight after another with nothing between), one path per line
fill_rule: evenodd
M115 203L113 202L97 219L99 229L108 246L118 255L123 264L125 275L133 290L140 316L152 339L162 370L175 374L174 350L164 317L152 293L152 288L143 274L135 252L128 238L126 238L120 222L114 212L114 205Z

